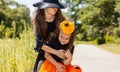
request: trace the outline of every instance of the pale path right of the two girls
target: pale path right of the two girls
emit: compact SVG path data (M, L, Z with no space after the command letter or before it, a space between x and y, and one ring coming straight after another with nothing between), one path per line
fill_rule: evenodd
M83 72L120 72L120 55L79 44L75 46L72 64L80 65Z

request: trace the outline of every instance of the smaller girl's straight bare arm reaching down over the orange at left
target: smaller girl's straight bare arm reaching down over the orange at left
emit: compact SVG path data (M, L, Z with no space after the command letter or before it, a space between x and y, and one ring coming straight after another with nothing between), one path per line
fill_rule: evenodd
M56 72L62 72L62 65L57 63L57 61L47 52L45 52L44 57L56 67Z

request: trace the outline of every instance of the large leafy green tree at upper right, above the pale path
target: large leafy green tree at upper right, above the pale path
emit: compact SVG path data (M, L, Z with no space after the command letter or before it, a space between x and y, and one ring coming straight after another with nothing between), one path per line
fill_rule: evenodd
M109 27L118 26L118 17L120 14L114 10L116 1L117 0L73 0L71 3L72 18L76 24L78 21L81 24L77 25L77 32L87 33L87 27L84 28L82 26L92 25L92 30L97 29L96 32L99 36L99 33L103 32L103 35L105 35L105 31L109 29ZM88 37L89 36L86 36L86 38Z

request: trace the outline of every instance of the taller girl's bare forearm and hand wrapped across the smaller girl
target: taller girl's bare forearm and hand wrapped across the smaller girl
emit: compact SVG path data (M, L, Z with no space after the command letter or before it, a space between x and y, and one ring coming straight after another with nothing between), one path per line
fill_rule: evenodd
M65 56L64 52L55 50L55 49L53 49L53 48L51 48L47 45L43 45L41 49L44 50L45 52L54 54L54 55L62 58L63 60L66 59L66 56Z

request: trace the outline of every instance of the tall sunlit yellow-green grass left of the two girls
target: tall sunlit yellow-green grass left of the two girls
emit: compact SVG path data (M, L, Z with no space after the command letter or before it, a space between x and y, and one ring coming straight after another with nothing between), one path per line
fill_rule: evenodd
M21 34L21 39L0 39L0 72L29 72L36 53L34 35Z

